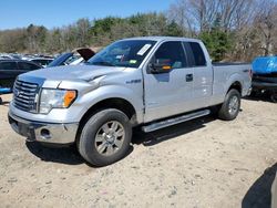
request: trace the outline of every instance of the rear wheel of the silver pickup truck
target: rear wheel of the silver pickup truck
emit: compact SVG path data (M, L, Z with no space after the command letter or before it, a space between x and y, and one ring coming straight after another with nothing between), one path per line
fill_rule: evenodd
M237 117L240 108L240 93L232 89L225 96L224 103L222 104L218 117L224 121L232 121Z

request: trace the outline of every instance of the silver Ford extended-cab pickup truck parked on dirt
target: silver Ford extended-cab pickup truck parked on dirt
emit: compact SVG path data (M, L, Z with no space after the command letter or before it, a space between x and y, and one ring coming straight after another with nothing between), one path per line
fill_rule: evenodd
M9 122L28 141L75 143L85 160L105 166L124 157L134 126L152 132L211 107L234 119L250 81L250 65L213 65L199 40L125 39L83 65L20 75Z

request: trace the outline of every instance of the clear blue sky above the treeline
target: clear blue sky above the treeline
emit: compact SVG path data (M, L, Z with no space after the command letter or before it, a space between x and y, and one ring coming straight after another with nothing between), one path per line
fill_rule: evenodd
M3 0L0 2L0 30L33 23L48 29L106 15L129 17L137 12L162 12L175 0Z

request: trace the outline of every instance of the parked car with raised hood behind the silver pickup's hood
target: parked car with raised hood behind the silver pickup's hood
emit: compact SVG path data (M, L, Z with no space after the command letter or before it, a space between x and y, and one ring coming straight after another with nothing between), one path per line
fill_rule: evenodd
M95 52L89 48L80 48L73 50L72 52L62 53L55 60L53 60L48 66L53 67L60 65L78 65L84 61L88 61L94 54Z

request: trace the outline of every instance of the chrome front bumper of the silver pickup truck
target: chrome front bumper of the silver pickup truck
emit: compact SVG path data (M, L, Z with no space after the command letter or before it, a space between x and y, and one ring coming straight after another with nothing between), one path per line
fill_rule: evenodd
M79 123L54 124L28 121L9 112L9 123L14 132L30 142L72 144L75 142Z

